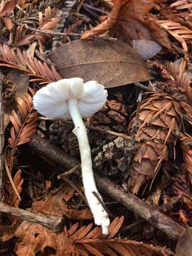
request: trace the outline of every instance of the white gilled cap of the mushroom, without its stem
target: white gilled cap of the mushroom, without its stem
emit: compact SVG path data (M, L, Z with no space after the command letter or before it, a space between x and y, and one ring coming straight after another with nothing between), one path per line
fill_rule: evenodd
M82 78L51 82L33 96L33 105L40 114L51 119L70 119L68 100L76 99L81 117L90 117L105 105L107 90L96 81Z

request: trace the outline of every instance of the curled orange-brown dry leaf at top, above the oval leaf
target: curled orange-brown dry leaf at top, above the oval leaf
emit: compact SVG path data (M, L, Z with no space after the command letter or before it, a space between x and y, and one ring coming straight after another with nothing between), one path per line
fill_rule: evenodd
M166 31L156 22L149 19L149 11L159 0L113 0L114 7L107 17L102 17L102 23L85 31L82 39L89 39L110 30L111 36L130 40L145 39L158 41L162 46L171 49ZM156 33L156 29L158 33ZM159 36L160 33L160 36ZM166 42L166 43L165 43Z

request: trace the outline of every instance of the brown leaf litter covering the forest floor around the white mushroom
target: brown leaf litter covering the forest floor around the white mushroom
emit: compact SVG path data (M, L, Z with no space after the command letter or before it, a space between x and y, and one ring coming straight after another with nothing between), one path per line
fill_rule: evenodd
M191 1L49 4L0 6L1 104L7 120L3 126L0 113L0 198L12 207L0 216L1 254L191 255ZM167 236L169 226L160 232L112 195L103 195L112 220L107 237L92 224L79 168L63 169L71 166L71 156L79 163L73 124L38 117L32 103L43 85L73 76L108 88L105 107L86 123L95 172L137 194L145 209L154 203L180 230L188 225L177 246ZM54 161L42 154L43 144L35 150L36 132ZM55 154L60 150L63 160ZM26 216L63 218L60 233L16 217L18 207Z

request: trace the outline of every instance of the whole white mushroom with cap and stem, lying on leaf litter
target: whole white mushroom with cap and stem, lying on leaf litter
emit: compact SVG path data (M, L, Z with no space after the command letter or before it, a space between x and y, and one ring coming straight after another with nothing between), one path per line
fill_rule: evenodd
M82 183L85 196L96 225L102 225L102 233L107 234L110 219L102 206L102 197L97 191L92 172L90 144L82 117L90 117L102 108L107 99L107 90L96 81L83 83L82 78L70 78L51 82L33 96L36 110L51 119L73 119L73 133L78 137L80 147ZM97 196L95 196L95 194ZM98 198L100 200L98 200Z

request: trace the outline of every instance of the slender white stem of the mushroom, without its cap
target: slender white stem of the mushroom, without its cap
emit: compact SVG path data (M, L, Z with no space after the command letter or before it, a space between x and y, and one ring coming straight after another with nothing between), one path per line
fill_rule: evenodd
M106 210L102 206L102 197L97 191L97 187L95 184L95 178L92 171L90 144L87 137L87 129L84 122L82 121L82 117L80 116L80 112L78 110L78 100L68 100L68 108L70 116L73 119L73 123L75 124L73 133L78 137L82 169L82 183L85 188L87 203L89 204L90 210L92 211L95 224L102 225L102 232L104 234L107 234L110 220L108 218ZM97 193L100 201L98 200L98 198L95 197L95 193Z

